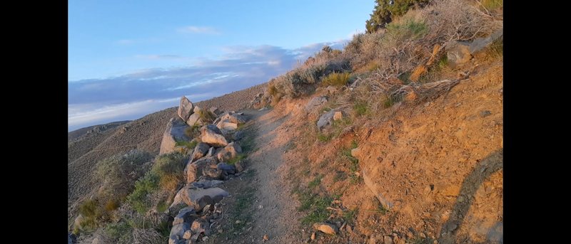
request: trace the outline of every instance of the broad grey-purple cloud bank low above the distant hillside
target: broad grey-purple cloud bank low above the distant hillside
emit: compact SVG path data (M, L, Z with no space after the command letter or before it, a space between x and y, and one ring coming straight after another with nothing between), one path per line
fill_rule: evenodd
M218 97L265 83L290 70L323 45L343 48L342 42L312 43L295 49L276 46L223 48L221 58L193 58L193 65L148 68L103 79L68 82L68 129L119 120L136 120L178 105L185 95L193 102ZM138 55L138 58L183 58L178 55ZM190 59L190 58L189 58Z

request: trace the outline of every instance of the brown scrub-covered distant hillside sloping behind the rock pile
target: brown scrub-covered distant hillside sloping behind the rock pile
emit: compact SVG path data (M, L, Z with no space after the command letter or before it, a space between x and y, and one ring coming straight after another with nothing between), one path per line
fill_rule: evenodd
M241 110L257 94L266 90L267 83L255 85L244 90L232 92L220 97L196 102L203 108L218 107L223 111ZM178 107L154 112L138 120L117 124L112 122L105 130L94 129L98 126L77 129L68 144L68 207L69 213L76 211L79 200L90 196L101 185L93 179L93 171L98 161L115 154L126 154L131 149L142 149L158 154L163 132L168 120L176 117ZM109 125L115 125L111 127ZM88 133L89 131L93 131ZM83 130L84 132L81 132ZM71 136L69 136L71 138Z

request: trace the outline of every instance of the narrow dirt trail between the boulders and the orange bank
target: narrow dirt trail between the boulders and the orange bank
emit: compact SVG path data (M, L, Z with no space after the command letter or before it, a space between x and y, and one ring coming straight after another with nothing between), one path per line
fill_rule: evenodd
M294 228L298 220L295 201L289 196L281 172L285 169L283 152L293 137L283 124L290 115L274 111L246 111L256 120L256 147L258 151L248 156L248 168L256 171L252 186L257 189L253 201L253 228L246 236L238 238L243 243L295 243ZM258 206L263 208L258 208ZM263 236L269 240L264 241Z

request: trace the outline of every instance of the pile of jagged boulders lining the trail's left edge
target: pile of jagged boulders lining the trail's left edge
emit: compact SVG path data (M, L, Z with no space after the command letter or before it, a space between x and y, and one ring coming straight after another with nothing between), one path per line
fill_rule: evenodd
M203 120L207 112L216 116L211 123ZM228 196L219 186L238 176L245 167L243 161L230 160L242 153L235 141L243 137L238 125L246 122L248 117L241 112L222 112L217 107L207 111L186 97L181 98L178 118L168 122L161 144L161 154L176 150L190 156L183 170L186 185L161 217L172 220L169 244L196 243L211 235L221 214L220 201ZM192 138L185 130L195 124L201 124L200 134ZM188 145L193 139L198 144L191 149Z

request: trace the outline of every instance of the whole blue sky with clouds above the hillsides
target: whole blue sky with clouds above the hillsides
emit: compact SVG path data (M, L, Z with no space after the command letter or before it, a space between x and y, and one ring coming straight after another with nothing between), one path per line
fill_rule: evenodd
M68 132L207 100L363 32L368 1L68 1Z

